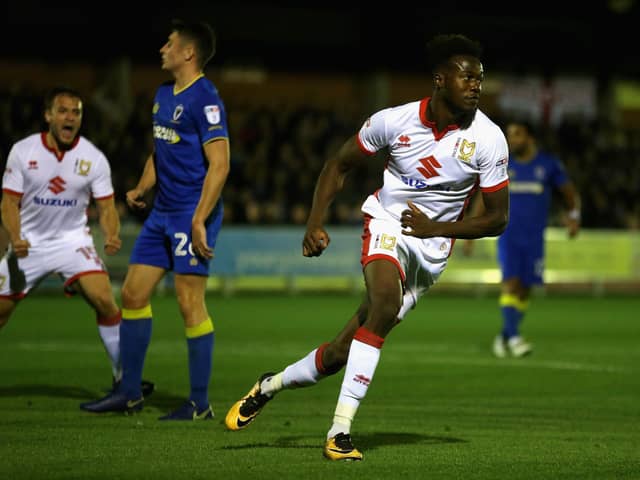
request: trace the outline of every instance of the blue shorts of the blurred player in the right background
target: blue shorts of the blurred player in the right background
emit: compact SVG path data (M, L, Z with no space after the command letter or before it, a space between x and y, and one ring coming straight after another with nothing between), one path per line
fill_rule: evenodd
M498 237L498 262L502 279L517 277L524 286L540 285L544 275L544 238Z

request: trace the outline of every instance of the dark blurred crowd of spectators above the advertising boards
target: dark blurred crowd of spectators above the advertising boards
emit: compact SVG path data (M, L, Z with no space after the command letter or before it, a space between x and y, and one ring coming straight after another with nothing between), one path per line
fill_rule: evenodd
M122 218L141 220L124 203L151 147L152 98L131 98L129 108L87 96L82 133L111 162ZM305 105L253 107L226 104L232 170L223 192L227 224L302 224L311 204L314 180L326 156L357 130L366 112L357 106L320 109ZM0 90L0 164L11 144L43 128L41 92L29 88ZM500 122L500 115L493 118ZM546 146L557 153L582 197L584 228L640 228L640 136L603 118L568 118L548 129ZM375 161L375 160L374 160ZM384 161L384 159L378 159ZM362 198L379 187L365 166L333 205L329 223L360 224ZM137 215L137 216L136 216ZM553 217L554 222L560 219Z

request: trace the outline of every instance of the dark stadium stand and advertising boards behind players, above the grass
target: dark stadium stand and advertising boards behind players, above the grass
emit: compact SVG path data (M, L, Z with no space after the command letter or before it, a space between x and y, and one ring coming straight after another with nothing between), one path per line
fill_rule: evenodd
M571 243L562 230L553 230L562 227L561 205L554 203L548 288L562 283L597 293L637 291L635 0L541 1L521 8L461 1L385 8L282 3L191 2L175 9L154 6L144 14L117 4L92 10L8 3L0 31L0 164L15 140L42 127L44 90L57 83L78 88L86 99L83 133L111 161L130 245L147 212L130 212L124 193L142 171L152 98L168 79L158 50L171 18L207 20L218 34L207 75L225 101L232 149L211 288L295 290L329 283L360 289L359 208L378 188L384 158L355 172L332 207L329 223L346 240L344 249L336 246L323 257L325 266L336 266L329 282L327 268L314 271L319 262L305 265L299 252L315 179L327 156L369 114L430 94L424 55L429 38L465 33L485 49L481 109L496 122L514 113L529 116L582 196L584 230ZM239 235L260 240L239 249ZM454 254L442 285L484 288L499 281L493 239L478 245L473 258ZM108 259L116 281L127 257L125 248Z

